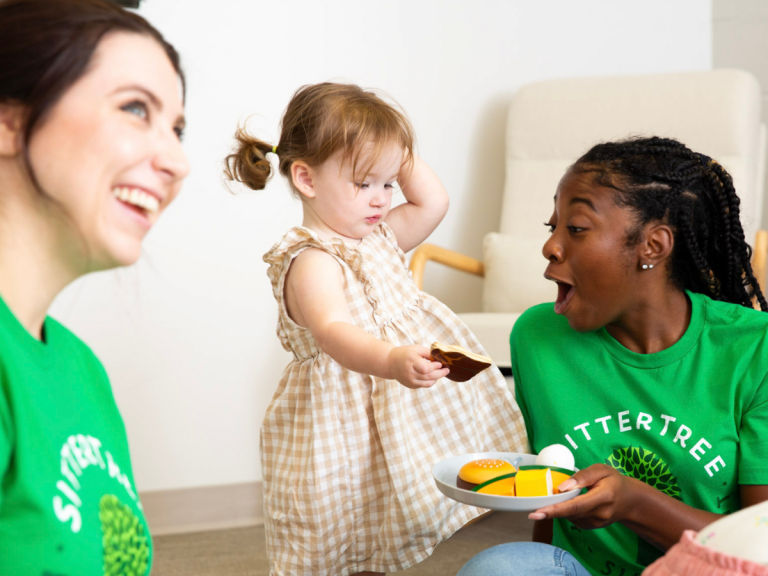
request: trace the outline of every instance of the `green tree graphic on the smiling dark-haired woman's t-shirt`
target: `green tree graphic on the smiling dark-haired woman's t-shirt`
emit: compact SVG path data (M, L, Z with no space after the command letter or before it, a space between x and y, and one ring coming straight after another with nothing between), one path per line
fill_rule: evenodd
M104 542L105 576L145 576L149 544L144 526L117 496L106 494L99 502Z

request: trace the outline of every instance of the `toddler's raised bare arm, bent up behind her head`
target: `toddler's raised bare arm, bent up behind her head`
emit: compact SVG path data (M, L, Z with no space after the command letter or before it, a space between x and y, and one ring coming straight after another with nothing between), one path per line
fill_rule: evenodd
M418 156L413 157L413 168L398 177L400 189L407 202L401 204L386 218L403 252L421 244L448 212L448 192L432 169Z

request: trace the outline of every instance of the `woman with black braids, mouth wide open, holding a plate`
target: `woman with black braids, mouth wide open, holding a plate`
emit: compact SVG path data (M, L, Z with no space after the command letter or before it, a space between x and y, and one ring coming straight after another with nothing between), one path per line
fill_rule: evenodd
M636 576L768 500L768 305L730 175L675 140L593 147L545 225L558 296L515 323L515 392L532 451L569 446L559 488L585 491L459 574Z

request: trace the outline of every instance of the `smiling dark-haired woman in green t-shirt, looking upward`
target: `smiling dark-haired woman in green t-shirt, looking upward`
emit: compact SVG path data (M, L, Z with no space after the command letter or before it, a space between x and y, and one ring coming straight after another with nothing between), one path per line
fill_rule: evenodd
M144 575L125 429L46 316L124 266L188 172L176 51L107 0L0 0L0 573Z

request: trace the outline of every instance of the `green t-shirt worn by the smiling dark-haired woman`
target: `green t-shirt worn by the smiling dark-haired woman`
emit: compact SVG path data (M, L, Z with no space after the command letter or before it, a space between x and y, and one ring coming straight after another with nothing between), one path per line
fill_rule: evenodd
M151 541L107 375L61 324L44 334L0 299L0 574L144 576Z

